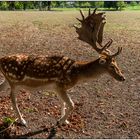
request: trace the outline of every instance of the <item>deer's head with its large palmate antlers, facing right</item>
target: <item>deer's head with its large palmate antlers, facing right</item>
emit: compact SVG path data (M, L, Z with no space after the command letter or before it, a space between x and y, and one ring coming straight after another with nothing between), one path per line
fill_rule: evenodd
M79 28L74 26L79 35L78 39L90 44L92 48L99 53L99 65L105 69L106 72L109 72L109 74L116 80L124 81L125 78L115 61L115 57L121 53L122 48L118 47L118 51L112 54L111 51L108 50L113 42L112 39L110 39L110 41L108 41L104 46L102 45L103 30L106 23L105 13L96 14L96 10L97 9L91 13L89 9L89 14L86 18L80 10L82 20L78 18L77 20L80 21L81 27Z

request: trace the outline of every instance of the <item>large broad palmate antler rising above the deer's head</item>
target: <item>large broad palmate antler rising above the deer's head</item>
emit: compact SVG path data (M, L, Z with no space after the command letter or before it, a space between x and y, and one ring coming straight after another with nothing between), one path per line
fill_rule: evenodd
M79 39L90 44L98 53L103 51L110 52L109 48L113 42L112 39L102 46L103 30L105 26L105 12L96 14L97 8L91 14L89 9L88 16L85 18L83 12L80 10L82 20L77 18L81 22L81 27L76 28L76 32L79 35ZM120 52L120 51L119 51Z

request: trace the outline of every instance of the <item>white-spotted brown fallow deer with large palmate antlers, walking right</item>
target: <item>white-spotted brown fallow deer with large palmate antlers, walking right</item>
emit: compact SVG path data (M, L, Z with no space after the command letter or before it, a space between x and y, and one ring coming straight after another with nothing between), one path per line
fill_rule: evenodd
M100 55L100 57L90 62L74 61L64 56L35 56L35 55L11 55L0 59L0 70L5 80L11 87L11 100L21 123L27 125L23 119L17 105L15 89L18 86L27 87L49 87L57 91L61 99L62 110L59 124L68 123L67 118L74 108L74 103L67 90L73 87L82 79L89 80L103 73L109 73L118 81L125 78L117 66L115 57L121 53L122 48L118 48L115 54L108 50L112 40L102 45L103 29L105 25L104 13L96 14L89 10L89 15L85 18L82 11L81 27L75 27L79 39L90 44ZM3 83L4 84L4 83Z

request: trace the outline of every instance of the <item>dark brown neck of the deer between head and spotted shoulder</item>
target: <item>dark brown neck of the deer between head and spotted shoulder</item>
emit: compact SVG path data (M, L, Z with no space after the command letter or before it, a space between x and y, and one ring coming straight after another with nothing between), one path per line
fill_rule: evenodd
M89 79L100 76L105 72L105 69L99 64L99 59L97 59L85 63L77 62L75 71L78 79Z

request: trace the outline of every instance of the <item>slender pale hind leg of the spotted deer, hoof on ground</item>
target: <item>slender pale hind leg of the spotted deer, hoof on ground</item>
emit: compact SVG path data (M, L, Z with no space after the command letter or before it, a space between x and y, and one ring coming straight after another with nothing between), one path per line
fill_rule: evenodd
M20 110L18 108L18 105L17 105L16 93L15 93L15 86L11 86L10 96L11 96L11 101L12 101L13 109L16 112L16 115L18 116L18 118L20 119L21 124L24 125L24 126L27 126L27 123L23 119L23 117L22 117L22 115L20 113Z

